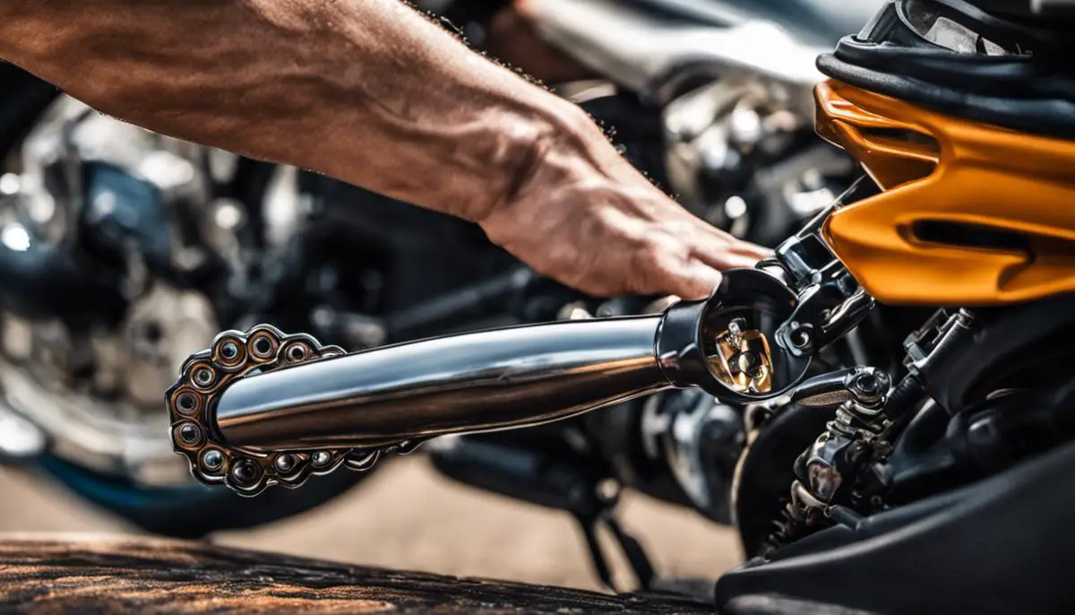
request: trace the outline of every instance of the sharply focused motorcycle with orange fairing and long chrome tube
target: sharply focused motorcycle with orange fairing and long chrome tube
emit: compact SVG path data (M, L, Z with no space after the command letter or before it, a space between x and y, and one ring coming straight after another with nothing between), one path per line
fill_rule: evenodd
M897 0L821 56L817 130L866 174L710 298L349 354L226 331L166 394L175 452L255 497L696 388L748 411L718 612L1070 612L1075 100L1044 10ZM882 304L931 311L899 367L818 364Z

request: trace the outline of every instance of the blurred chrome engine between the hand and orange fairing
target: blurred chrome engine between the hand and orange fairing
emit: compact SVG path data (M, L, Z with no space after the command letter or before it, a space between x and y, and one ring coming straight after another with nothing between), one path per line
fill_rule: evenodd
M775 245L849 183L855 165L813 134L789 86L685 70L662 88L664 166L679 202L706 221Z

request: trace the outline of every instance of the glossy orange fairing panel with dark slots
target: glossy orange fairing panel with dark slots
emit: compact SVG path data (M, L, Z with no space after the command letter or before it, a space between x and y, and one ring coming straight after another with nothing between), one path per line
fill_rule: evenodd
M835 81L815 95L818 133L884 189L833 213L823 230L878 301L970 306L1075 290L1075 142L944 116ZM1003 231L1028 247L923 239L923 223Z

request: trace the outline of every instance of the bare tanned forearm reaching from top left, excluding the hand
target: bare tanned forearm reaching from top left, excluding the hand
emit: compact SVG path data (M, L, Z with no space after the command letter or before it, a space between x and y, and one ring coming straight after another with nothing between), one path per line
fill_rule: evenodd
M152 130L472 220L549 151L611 151L398 0L4 0L0 57Z

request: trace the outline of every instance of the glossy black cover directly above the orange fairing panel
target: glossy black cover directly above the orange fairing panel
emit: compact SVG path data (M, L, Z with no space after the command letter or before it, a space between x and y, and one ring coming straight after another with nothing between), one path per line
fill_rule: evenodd
M917 37L907 25L911 2L887 6L872 34L845 37L818 58L825 74L871 91L958 117L1014 130L1075 139L1075 39L1062 29L1006 22L962 0L917 2L958 15L1008 55L956 53ZM869 37L869 38L868 38Z

